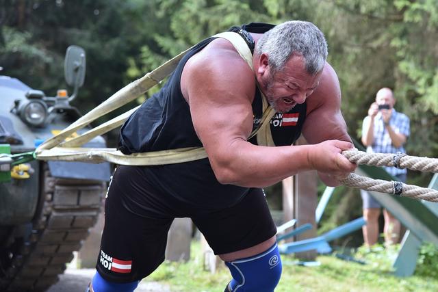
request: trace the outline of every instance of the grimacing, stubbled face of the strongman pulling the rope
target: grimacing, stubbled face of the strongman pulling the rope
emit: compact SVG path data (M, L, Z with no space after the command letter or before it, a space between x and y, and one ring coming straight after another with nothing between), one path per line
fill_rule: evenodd
M322 72L311 76L305 70L305 60L301 56L292 56L283 70L275 72L267 70L263 75L261 89L268 103L276 112L290 111L296 104L304 103L318 87Z

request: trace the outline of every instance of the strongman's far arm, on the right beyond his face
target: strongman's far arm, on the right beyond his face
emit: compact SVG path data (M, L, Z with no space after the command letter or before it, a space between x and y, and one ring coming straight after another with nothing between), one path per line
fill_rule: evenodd
M302 129L307 142L317 144L326 140L352 142L341 113L341 89L335 70L326 63L320 85L307 98L307 116ZM342 155L339 151L339 155ZM318 172L326 185L339 185L337 178L346 174Z

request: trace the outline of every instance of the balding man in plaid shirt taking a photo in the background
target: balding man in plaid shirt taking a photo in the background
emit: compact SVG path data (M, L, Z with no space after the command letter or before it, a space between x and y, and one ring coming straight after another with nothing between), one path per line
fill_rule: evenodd
M389 88L381 88L376 94L376 101L370 105L368 116L363 119L362 143L367 146L367 152L396 153L406 152L404 143L409 137L409 118L394 109L396 99ZM407 170L385 167L385 170L396 176L400 181L406 181ZM368 191L361 190L363 200L363 217L367 224L363 226L365 245L371 246L378 239L378 217L381 205ZM400 237L400 222L386 209L383 211L386 245L397 243Z

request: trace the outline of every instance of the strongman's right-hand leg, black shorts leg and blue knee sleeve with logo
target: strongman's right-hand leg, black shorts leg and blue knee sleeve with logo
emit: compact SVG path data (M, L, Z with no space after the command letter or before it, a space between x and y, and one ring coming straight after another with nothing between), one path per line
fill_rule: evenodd
M225 291L273 292L281 276L276 226L262 189L228 209L192 217L231 271Z

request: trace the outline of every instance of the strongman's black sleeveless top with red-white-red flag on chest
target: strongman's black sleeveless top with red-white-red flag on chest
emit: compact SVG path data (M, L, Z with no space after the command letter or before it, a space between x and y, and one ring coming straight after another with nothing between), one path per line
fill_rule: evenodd
M264 33L273 25L250 23L242 29ZM240 27L232 27L238 31ZM203 146L193 127L190 107L181 92L181 73L185 63L215 38L199 42L179 62L164 87L145 101L120 129L118 148L125 154L150 152L184 147ZM245 39L245 38L244 38ZM262 114L262 101L256 90L253 101L254 124L258 127ZM287 114L276 114L270 120L272 138L276 146L293 144L300 136L305 120L306 104L296 105ZM249 140L257 144L255 137ZM158 191L206 210L229 207L239 202L247 187L220 184L211 169L209 160L199 159L186 163L141 166L149 175L149 182Z

